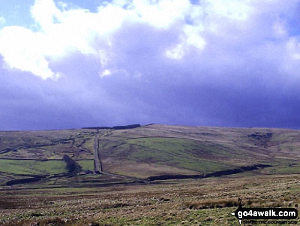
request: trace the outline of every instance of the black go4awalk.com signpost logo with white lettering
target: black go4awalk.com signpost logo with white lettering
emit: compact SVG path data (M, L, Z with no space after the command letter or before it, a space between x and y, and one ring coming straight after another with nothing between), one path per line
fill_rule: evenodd
M241 203L242 199L239 198L239 207L232 213L240 224L243 220L294 220L298 217L295 208L243 208Z

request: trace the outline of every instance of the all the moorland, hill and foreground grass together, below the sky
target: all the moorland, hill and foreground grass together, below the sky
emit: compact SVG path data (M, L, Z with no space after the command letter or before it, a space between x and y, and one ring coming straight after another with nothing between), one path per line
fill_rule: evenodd
M65 154L81 173L66 169ZM100 174L87 173L94 158ZM300 131L0 131L0 225L239 225L238 197L243 207L300 210Z

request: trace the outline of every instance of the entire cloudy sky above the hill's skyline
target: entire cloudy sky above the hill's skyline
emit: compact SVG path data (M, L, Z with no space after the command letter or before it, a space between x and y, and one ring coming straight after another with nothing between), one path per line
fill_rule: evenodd
M299 0L1 0L0 130L300 129Z

